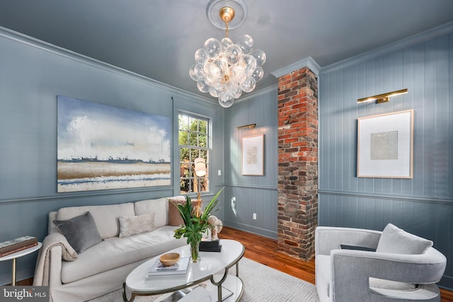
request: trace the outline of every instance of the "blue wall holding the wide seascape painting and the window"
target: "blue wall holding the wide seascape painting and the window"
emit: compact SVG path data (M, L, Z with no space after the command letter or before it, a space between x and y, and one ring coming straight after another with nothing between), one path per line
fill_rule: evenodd
M214 102L1 29L0 53L0 242L25 235L42 240L47 234L47 213L61 207L115 204L179 192L179 173L173 173L171 186L57 194L57 95L163 115L172 121L179 110L210 117L214 119L211 168L224 170L224 112ZM173 146L177 144L177 129L173 129ZM178 171L178 149L173 146L173 170ZM213 190L222 184L222 176L211 180ZM33 276L37 255L18 259L18 280ZM0 284L9 282L11 261L2 261Z

